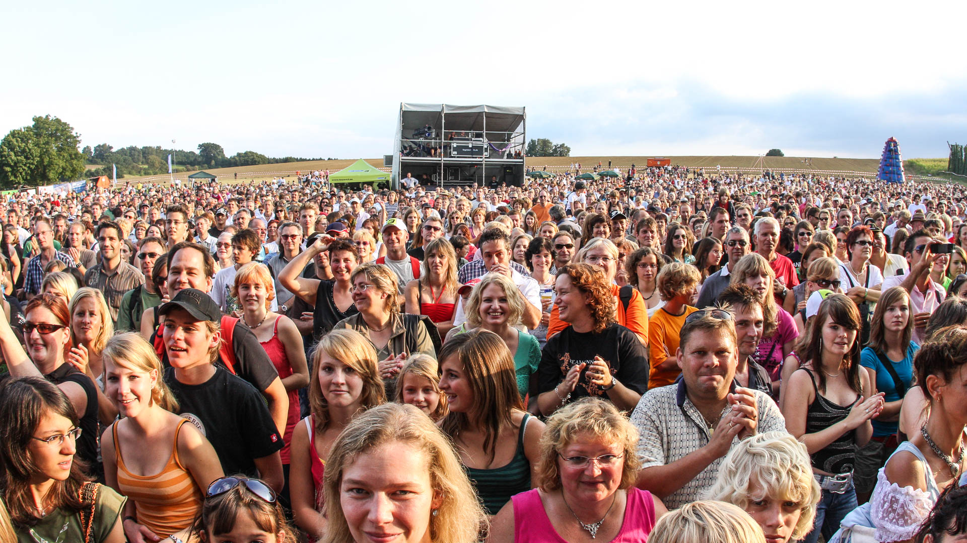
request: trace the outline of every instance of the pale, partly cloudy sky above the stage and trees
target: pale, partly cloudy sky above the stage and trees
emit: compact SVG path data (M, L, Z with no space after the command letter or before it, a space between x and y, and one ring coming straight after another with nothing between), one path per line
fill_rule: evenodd
M572 156L947 157L967 3L20 2L0 133L381 157L399 102L525 106ZM958 52L959 51L959 52Z

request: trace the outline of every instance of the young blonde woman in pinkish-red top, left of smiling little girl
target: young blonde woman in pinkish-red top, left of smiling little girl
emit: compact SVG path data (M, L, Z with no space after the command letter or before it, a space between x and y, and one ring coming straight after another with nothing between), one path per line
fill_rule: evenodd
M312 356L309 415L292 434L289 496L296 525L319 538L326 528L324 458L356 415L386 401L376 351L359 332L335 329L319 340Z

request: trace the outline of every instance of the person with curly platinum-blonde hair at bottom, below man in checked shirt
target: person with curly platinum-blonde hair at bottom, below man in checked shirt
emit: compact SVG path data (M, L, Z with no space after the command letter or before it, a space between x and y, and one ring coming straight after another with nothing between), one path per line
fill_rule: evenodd
M771 543L788 543L812 529L821 491L806 445L785 432L765 432L729 450L705 496L742 507Z

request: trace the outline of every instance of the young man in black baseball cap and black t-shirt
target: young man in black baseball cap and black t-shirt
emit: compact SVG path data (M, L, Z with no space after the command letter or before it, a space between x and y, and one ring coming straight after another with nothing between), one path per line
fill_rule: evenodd
M212 363L220 340L208 323L220 321L219 306L201 291L183 289L159 314L171 363L164 381L178 399L178 413L212 443L223 472L259 477L280 491L282 436L261 394Z

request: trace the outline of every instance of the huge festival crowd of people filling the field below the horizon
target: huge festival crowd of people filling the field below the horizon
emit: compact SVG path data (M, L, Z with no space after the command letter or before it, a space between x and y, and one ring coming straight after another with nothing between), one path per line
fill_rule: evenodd
M963 186L579 174L5 194L0 541L967 538Z

